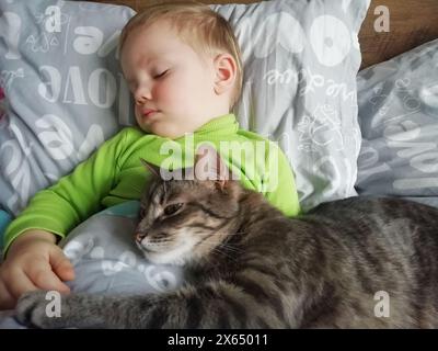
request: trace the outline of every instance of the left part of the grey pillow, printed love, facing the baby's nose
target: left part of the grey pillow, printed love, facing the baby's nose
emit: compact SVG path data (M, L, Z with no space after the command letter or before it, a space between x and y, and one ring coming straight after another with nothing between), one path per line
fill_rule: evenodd
M134 123L118 35L135 12L81 1L0 1L0 204L18 214Z

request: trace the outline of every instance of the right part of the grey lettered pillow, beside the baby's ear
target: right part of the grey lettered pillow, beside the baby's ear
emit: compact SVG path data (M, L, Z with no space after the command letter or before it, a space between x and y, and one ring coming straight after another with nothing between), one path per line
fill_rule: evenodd
M360 131L357 33L370 1L214 5L234 27L244 86L241 127L278 141L301 207L356 195Z

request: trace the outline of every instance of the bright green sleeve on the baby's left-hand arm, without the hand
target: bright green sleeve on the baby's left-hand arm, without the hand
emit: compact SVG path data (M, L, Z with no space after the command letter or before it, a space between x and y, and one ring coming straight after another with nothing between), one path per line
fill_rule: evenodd
M44 229L64 237L80 222L97 212L101 200L111 191L117 178L117 155L124 137L120 132L70 174L37 192L7 228L3 253L25 230Z

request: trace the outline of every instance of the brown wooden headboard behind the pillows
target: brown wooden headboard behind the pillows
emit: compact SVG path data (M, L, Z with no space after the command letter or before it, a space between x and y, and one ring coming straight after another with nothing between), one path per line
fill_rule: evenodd
M131 7L136 11L151 2L164 0L94 0ZM205 3L252 3L257 0L200 0ZM293 1L293 0L290 0ZM341 1L341 0L337 0ZM355 1L355 0L351 0ZM377 32L374 24L389 11L389 32ZM438 38L438 0L372 0L359 32L361 68L388 60L423 43Z

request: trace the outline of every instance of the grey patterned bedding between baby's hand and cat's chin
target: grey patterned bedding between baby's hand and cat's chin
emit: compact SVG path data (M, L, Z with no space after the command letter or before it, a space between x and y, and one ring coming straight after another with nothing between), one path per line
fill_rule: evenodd
M129 201L102 211L76 227L60 246L74 267L72 292L96 294L163 293L177 288L184 270L148 262L134 233L140 203Z

